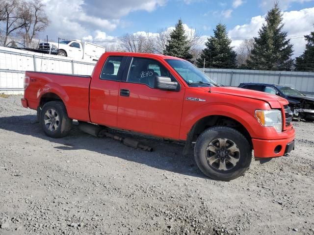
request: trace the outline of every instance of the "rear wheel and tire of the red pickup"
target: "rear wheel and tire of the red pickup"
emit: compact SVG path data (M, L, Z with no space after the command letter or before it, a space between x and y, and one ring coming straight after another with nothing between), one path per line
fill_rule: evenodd
M70 132L72 119L68 117L61 101L50 101L43 106L40 112L40 126L47 136L61 138Z

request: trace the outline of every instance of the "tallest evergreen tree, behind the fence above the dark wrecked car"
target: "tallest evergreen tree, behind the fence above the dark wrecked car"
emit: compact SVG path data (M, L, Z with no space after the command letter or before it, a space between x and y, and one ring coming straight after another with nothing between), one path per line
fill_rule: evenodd
M287 32L282 31L284 24L278 2L267 12L266 22L254 37L254 46L247 65L254 70L289 71L293 65L293 53Z

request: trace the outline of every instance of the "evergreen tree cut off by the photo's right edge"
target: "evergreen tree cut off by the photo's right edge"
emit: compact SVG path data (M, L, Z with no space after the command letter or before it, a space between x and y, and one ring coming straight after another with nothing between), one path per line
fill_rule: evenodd
M314 32L304 37L307 44L303 54L295 58L295 70L314 72Z

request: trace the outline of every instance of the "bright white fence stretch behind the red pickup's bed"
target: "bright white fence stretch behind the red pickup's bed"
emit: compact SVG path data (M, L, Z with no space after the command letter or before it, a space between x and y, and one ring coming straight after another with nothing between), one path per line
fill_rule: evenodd
M0 47L0 93L22 94L25 71L91 75L96 63Z

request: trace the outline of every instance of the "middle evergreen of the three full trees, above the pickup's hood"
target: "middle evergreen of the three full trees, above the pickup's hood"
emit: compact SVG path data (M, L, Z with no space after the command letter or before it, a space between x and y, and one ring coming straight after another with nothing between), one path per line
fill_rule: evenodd
M225 24L217 24L213 30L214 36L208 38L200 58L197 59L197 66L203 68L231 69L236 66L236 53L231 47L231 40L228 38Z

